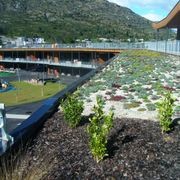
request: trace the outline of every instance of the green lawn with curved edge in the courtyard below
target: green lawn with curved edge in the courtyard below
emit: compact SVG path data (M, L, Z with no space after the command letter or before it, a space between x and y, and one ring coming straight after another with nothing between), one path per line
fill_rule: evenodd
M46 83L46 85L33 85L26 82L12 82L16 90L0 93L0 103L6 106L24 104L46 99L65 88L58 83Z

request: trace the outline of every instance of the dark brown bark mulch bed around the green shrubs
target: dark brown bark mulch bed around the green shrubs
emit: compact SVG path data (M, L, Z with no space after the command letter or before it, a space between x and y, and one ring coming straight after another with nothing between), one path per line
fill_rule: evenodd
M157 122L116 119L108 143L109 157L96 163L88 148L87 123L70 129L60 113L44 125L29 150L33 163L50 158L42 179L178 179L178 125L162 134Z

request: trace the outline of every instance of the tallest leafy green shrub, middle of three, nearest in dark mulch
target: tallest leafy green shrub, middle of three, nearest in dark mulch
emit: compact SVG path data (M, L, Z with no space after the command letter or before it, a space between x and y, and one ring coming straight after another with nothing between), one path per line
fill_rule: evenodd
M89 146L97 162L101 161L107 154L107 138L113 125L112 111L108 115L103 112L104 101L101 97L96 97L97 106L93 107L94 115L90 118L90 125L87 127L89 134Z

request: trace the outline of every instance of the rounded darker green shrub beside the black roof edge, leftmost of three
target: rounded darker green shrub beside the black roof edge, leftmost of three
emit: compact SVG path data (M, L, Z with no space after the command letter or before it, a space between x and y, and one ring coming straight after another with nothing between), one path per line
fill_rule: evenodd
M78 99L78 93L68 95L67 98L62 101L62 111L65 121L70 127L76 127L81 121L81 114L83 112L83 101Z

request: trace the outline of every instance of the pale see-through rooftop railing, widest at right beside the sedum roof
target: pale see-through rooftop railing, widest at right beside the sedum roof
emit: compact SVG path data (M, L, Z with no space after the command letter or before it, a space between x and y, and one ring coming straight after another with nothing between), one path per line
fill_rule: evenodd
M93 49L149 49L164 53L170 53L175 55L180 55L180 41L149 41L149 42L103 42L103 43L75 43L75 44L28 44L26 46L16 46L8 44L2 48L68 48L68 49L83 49L83 48L93 48Z

